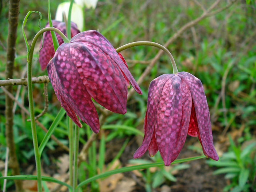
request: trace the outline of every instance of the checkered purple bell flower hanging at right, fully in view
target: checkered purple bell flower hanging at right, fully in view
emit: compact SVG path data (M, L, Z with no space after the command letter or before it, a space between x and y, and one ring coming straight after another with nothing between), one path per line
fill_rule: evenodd
M218 160L203 85L190 73L164 74L150 83L144 132L134 158L147 150L154 156L159 150L164 165L169 166L189 134L198 136L207 157Z

